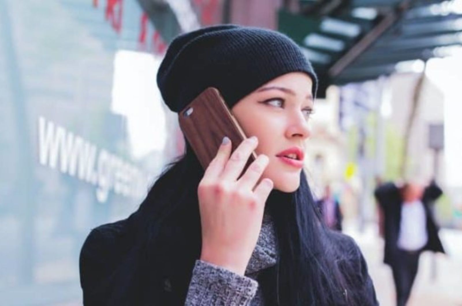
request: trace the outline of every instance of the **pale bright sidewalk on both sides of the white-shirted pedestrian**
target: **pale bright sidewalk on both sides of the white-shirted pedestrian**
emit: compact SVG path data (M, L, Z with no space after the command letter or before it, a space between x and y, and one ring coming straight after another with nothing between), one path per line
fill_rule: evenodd
M355 224L345 224L344 233L352 236L363 252L381 306L395 306L395 288L389 266L382 262L383 239L376 224L359 233ZM462 231L442 229L439 233L447 256L425 252L407 306L462 306ZM432 261L437 277L432 280Z

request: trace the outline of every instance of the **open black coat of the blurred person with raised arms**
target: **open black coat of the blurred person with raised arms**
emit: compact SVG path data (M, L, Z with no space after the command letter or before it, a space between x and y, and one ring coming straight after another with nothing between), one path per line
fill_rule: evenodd
M424 204L426 214L426 229L428 234L427 244L422 251L434 251L444 253L443 245L438 237L438 225L435 222L431 204L443 194L437 184L432 182L426 187L420 201ZM398 235L401 224L402 198L398 187L394 183L386 183L379 186L374 193L377 202L383 209L385 254L383 262L393 265L398 254Z

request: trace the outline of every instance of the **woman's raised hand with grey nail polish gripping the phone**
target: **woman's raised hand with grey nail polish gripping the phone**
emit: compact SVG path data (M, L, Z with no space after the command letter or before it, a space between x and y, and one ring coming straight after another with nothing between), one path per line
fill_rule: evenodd
M244 275L260 234L265 202L273 182L261 174L268 157L261 154L247 168L258 140L251 137L231 153L225 137L218 153L207 167L198 187L201 213L201 260Z

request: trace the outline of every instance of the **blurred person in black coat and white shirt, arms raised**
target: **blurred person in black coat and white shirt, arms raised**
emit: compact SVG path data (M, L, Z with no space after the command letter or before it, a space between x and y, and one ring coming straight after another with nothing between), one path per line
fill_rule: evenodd
M441 195L434 180L426 188L408 182L401 187L386 183L375 190L384 216L384 262L393 272L398 306L409 299L421 252L444 253L430 207Z

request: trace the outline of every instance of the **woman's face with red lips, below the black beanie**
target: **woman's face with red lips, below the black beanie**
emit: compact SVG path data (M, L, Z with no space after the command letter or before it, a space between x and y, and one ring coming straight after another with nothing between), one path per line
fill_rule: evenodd
M300 185L304 141L310 136L312 86L307 74L287 73L256 89L231 109L245 134L258 137L255 152L269 158L262 177L270 178L274 188L283 192L293 192Z

